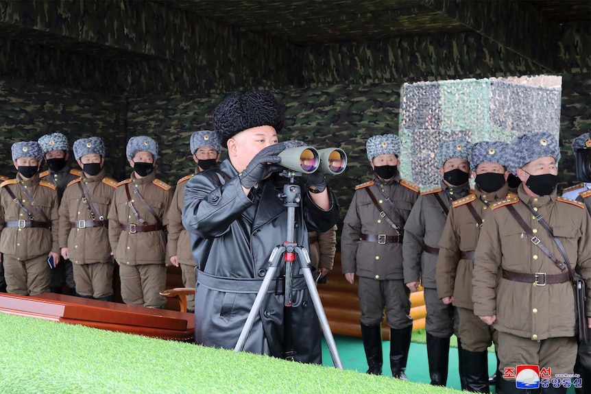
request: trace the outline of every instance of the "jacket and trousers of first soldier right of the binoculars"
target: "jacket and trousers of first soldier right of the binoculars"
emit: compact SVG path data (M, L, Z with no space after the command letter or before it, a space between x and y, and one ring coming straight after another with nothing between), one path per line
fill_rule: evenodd
M365 188L370 188L400 230L381 217ZM343 223L341 262L343 273L359 276L361 323L379 324L386 308L391 328L407 328L413 320L409 315L410 292L402 273L402 238L419 188L396 176L387 183L375 177L356 189Z

